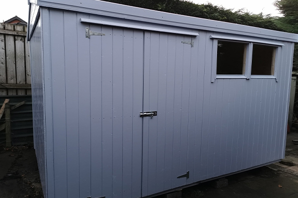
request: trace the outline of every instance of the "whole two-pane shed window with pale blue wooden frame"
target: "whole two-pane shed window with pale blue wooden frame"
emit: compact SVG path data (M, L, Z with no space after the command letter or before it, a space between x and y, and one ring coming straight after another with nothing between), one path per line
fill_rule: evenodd
M273 78L277 80L277 67L284 44L211 35L211 82L223 78Z

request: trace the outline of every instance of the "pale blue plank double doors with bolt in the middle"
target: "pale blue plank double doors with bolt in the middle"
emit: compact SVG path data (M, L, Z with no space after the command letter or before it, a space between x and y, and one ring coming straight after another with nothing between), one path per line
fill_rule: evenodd
M140 198L194 182L198 37L89 28L105 34L89 38L101 76L100 194Z

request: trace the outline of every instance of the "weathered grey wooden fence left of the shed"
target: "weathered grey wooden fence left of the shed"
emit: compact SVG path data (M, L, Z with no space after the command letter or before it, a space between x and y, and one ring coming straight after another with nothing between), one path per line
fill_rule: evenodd
M0 95L31 95L27 27L0 23Z

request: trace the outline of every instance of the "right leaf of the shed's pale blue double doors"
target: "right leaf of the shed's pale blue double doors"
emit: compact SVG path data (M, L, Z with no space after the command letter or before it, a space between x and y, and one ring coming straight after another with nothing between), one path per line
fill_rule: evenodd
M145 32L142 197L187 184L191 36ZM193 170L193 168L192 168ZM181 178L177 178L182 176Z

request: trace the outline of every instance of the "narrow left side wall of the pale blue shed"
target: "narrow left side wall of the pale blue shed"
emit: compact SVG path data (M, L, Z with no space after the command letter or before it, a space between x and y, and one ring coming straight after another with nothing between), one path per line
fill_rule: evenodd
M34 131L34 148L40 180L45 197L47 198L47 168L45 152L45 117L44 117L44 71L43 71L43 51L42 51L42 32L41 18L38 19L36 28L30 40L31 52L31 76L32 76L32 110L33 110L33 131Z

